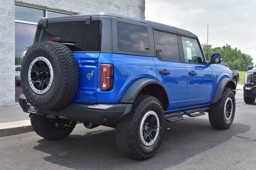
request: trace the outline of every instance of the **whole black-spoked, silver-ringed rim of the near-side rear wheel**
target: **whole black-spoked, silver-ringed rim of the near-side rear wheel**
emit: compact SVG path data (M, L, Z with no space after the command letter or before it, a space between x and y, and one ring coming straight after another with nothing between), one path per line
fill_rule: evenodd
M156 112L148 111L140 122L140 140L143 145L151 146L159 134L159 118Z

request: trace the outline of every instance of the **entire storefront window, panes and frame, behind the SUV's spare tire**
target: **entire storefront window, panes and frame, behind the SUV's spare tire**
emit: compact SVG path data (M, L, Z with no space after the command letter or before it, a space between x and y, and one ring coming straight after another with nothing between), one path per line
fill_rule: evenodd
M22 59L34 42L38 21L45 17L68 16L61 12L52 12L45 9L37 9L15 5L15 102L18 102L22 88L20 84L20 66Z

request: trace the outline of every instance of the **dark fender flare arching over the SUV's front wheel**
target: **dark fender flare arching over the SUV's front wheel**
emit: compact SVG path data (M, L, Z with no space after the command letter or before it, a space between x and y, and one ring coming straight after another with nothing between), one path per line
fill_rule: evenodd
M230 82L232 84L231 89L236 90L236 84L233 79L227 78L227 77L222 78L218 84L216 91L215 91L215 95L214 95L214 99L213 99L212 103L216 103L216 102L218 102L218 100L220 100L226 85Z

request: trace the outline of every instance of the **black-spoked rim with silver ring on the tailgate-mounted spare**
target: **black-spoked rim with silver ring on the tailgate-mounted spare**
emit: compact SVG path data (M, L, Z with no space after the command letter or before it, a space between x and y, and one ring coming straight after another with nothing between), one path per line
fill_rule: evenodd
M36 57L28 69L28 81L37 94L45 94L52 86L52 64L45 57Z

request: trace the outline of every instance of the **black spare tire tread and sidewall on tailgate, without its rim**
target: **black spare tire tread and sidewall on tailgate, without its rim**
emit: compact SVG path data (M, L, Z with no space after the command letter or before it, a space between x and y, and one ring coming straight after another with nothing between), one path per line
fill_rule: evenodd
M53 80L45 94L34 92L28 77L31 63L37 57L46 58L52 65ZM23 93L30 104L40 109L60 109L76 94L79 80L78 64L66 45L53 41L40 41L28 48L22 61L20 76Z

